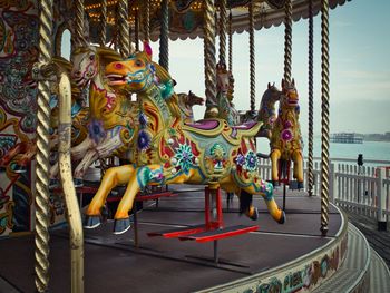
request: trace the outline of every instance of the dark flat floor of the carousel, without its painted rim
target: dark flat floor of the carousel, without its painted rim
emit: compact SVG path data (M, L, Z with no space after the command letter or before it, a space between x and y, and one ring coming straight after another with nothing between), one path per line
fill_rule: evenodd
M331 207L328 237L320 233L320 198L299 193L287 197L284 225L266 213L262 198L256 222L240 216L237 202L225 211L226 226L259 224L259 232L218 242L220 264L213 263L213 243L148 237L147 232L202 224L203 192L173 186L179 195L145 203L139 219L139 248L133 229L113 235L113 223L85 231L85 292L193 292L283 265L328 243L340 228L341 216ZM276 196L279 204L282 197ZM225 205L225 203L224 203ZM225 206L226 207L226 206ZM50 292L70 292L67 228L50 233ZM32 236L0 240L0 279L19 292L35 292ZM1 285L1 283L0 283ZM0 286L1 292L1 286Z

